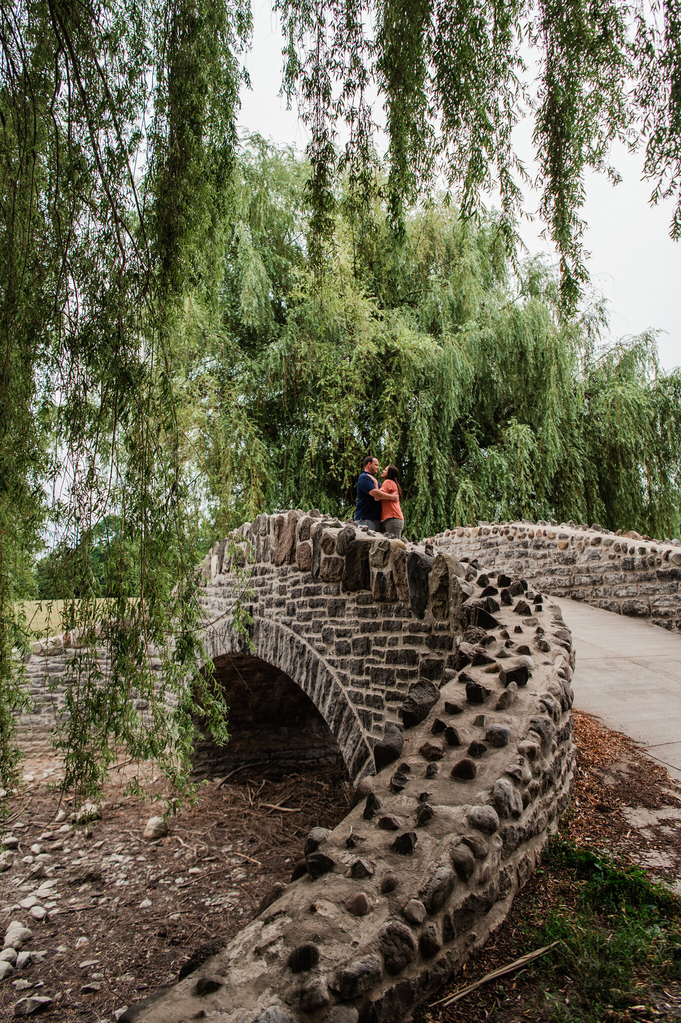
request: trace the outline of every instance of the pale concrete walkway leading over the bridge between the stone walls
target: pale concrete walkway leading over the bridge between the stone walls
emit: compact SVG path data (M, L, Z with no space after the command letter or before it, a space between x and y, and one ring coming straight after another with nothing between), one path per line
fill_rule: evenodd
M681 780L681 635L577 601L550 603L573 632L575 706Z

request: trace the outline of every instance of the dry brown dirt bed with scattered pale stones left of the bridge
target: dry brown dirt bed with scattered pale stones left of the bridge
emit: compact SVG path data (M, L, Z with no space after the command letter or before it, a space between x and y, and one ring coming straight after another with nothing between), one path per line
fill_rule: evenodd
M26 949L45 955L0 982L0 1018L17 998L47 994L45 1018L112 1021L148 989L174 983L192 954L217 951L276 881L290 879L310 829L335 827L351 795L345 770L246 773L203 786L200 805L150 842L142 833L157 808L111 787L88 836L55 821L48 785L49 776L29 783L6 824L19 846L0 876L0 920L30 927ZM32 901L47 910L43 920L31 916Z

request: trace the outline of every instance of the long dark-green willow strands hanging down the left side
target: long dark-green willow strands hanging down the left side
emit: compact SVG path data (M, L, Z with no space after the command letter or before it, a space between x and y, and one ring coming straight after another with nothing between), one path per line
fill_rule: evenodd
M247 7L208 0L0 4L6 790L28 642L17 580L46 523L61 626L78 646L56 736L63 788L95 793L125 747L182 789L197 700L225 732L221 698L200 678L197 700L185 684L200 652L169 339L187 284L214 276L248 27ZM103 542L102 522L116 524Z

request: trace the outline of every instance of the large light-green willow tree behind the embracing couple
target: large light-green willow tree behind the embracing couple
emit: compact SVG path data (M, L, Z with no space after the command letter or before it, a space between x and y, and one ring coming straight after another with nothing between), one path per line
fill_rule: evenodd
M252 139L216 306L176 339L213 534L276 507L354 510L366 453L395 462L415 537L478 519L597 521L677 535L681 376L654 333L609 347L540 260L512 270L498 217L433 203L396 243L338 215L313 272L305 165ZM338 209L343 208L343 193Z

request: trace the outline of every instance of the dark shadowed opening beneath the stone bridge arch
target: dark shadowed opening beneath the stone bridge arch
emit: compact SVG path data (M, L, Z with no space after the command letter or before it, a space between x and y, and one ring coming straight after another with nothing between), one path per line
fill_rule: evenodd
M279 770L337 767L338 744L314 703L285 672L253 654L216 657L215 678L229 708L230 740L207 732L194 744L193 774L223 777L244 767Z

